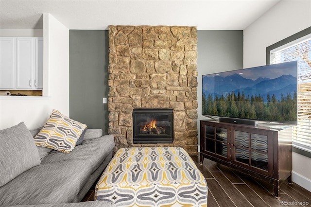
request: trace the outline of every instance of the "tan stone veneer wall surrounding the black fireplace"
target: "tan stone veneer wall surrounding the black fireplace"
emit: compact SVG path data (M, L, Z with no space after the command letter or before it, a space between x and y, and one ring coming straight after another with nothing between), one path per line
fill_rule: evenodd
M115 151L175 146L198 151L197 31L186 26L109 26L109 128ZM133 144L133 108L173 108L172 144Z

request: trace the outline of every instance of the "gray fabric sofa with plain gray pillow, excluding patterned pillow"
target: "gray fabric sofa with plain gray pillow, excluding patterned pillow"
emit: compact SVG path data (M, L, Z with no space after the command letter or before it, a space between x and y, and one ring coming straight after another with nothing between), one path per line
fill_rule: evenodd
M35 146L38 132L23 122L0 130L0 206L95 206L68 203L80 202L101 175L112 158L113 137L86 129L82 144L65 154Z

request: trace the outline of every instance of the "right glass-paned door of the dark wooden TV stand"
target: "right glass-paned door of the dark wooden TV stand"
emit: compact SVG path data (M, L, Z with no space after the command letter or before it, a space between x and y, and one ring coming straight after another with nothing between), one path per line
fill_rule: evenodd
M268 146L273 145L272 133L239 127L232 127L232 130L232 161L256 172L271 175L273 149L269 149Z

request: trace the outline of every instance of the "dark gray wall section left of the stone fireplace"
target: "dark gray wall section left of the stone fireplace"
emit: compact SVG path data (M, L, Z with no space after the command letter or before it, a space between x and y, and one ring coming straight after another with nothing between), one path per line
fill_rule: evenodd
M108 75L108 31L69 30L69 116L105 135Z

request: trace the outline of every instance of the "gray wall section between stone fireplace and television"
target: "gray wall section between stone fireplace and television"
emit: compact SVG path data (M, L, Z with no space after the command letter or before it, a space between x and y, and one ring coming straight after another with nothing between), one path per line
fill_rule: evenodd
M198 145L202 116L202 75L243 68L243 31L197 31L198 33Z

